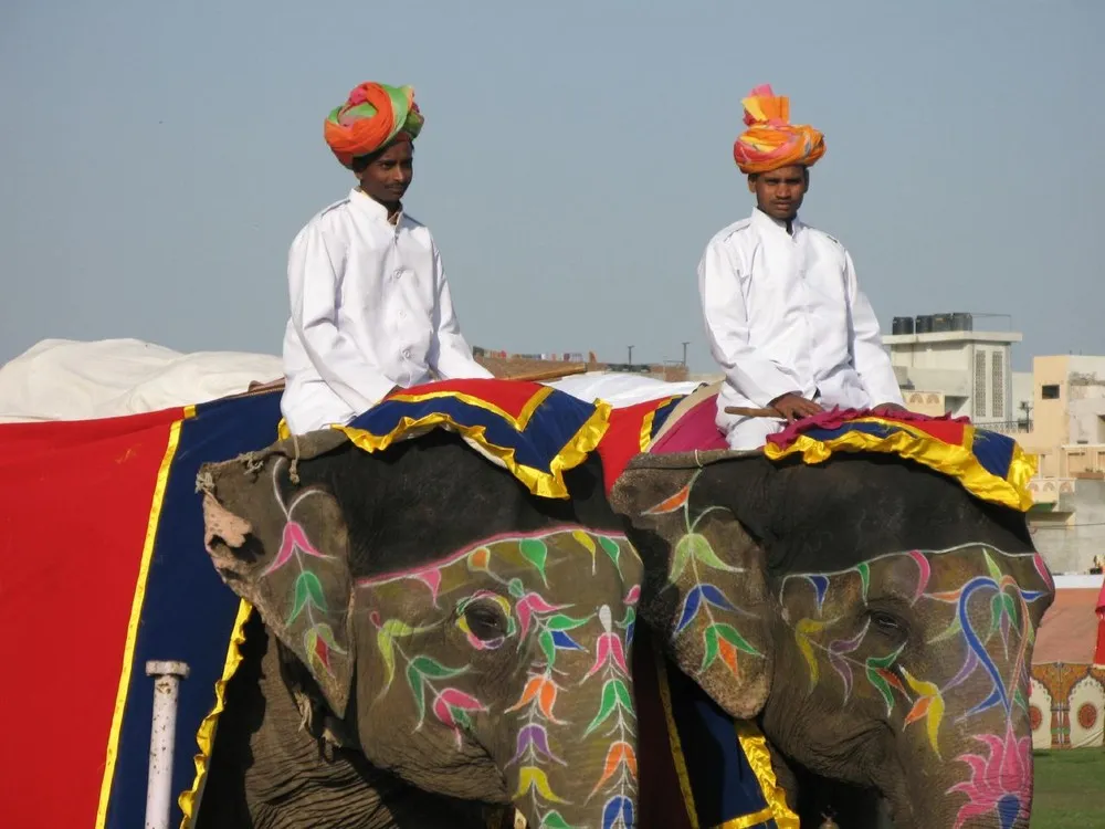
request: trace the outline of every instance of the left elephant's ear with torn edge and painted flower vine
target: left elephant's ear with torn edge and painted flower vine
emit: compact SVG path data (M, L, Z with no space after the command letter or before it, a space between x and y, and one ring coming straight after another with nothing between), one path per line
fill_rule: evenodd
M308 668L340 718L352 686L349 538L334 496L299 486L297 469L325 463L345 437L326 431L233 461L204 464L204 543L223 581L252 605Z

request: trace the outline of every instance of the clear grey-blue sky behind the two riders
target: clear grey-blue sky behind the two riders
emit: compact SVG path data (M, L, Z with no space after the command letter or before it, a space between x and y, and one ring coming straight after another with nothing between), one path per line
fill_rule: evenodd
M695 267L750 210L771 83L825 133L803 218L894 315L1103 354L1102 0L4 0L0 360L44 337L280 353L295 232L350 176L322 120L417 88L408 209L469 340L711 366Z

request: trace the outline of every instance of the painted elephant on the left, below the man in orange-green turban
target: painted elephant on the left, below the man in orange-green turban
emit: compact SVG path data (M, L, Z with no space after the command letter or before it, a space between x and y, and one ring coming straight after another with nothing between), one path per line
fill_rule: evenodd
M516 804L634 826L642 566L597 463L571 500L445 432L206 466L208 549L256 615L197 825L486 827Z

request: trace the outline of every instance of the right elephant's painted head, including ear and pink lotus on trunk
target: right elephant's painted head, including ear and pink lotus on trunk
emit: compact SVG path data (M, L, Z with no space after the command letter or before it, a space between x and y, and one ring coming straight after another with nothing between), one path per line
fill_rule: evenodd
M642 458L613 503L642 618L782 757L877 789L898 829L1028 826L1053 586L1021 513L878 457Z

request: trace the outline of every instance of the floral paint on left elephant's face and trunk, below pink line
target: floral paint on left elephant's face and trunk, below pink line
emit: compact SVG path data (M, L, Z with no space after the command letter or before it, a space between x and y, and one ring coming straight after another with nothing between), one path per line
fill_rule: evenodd
M473 716L514 717L505 770L516 775L515 802L528 801L529 811L540 816L535 829L571 827L566 807L590 807L594 800L601 804L602 827L632 827L638 758L628 654L640 577L640 559L624 536L562 526L488 538L432 567L361 579L358 602L364 595L373 608L370 620L386 674L379 699L409 693L417 728L432 716L453 731L457 746ZM579 609L570 599L588 578L615 580L620 605ZM482 638L473 631L466 611L480 604L502 612L501 634ZM463 638L471 661L442 655L455 654L434 647L446 636ZM476 660L503 649L528 649L529 662L517 696L493 710L484 702L490 692L465 680L477 673ZM571 713L565 714L568 706ZM569 768L562 747L587 741L602 753L601 763ZM587 804L558 794L557 779L587 773L596 775Z

